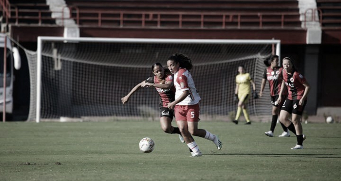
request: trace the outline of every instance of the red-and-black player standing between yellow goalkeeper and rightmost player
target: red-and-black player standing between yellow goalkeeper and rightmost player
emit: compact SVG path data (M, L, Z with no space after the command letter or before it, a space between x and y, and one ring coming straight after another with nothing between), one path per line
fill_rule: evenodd
M270 131L265 132L265 135L273 137L273 132L276 127L277 118L280 114L280 110L282 107L282 104L278 104L278 94L281 91L281 85L283 81L283 75L282 71L283 68L278 66L279 57L277 55L271 56L270 60L265 60L265 66L267 66L263 72L263 80L261 85L261 91L259 92L259 96L263 96L263 91L265 88L266 80L269 82L270 87L270 96L271 96L271 104L272 104L272 121L271 121L271 127ZM282 99L286 99L287 91L284 91L282 94ZM288 132L288 129L284 126L283 123L281 123L283 128L283 133L279 135L279 137L288 137L290 136L290 133Z

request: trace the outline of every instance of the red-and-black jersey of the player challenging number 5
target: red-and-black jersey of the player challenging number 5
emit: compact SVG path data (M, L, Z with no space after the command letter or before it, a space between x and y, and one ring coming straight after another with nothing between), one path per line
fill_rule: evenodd
M165 81L159 82L156 76L150 77L146 80L146 82L150 83L167 83L173 82L173 76L171 74L165 75ZM159 93L160 97L160 107L167 108L168 103L175 100L175 87L174 85L170 89L162 89L155 87L156 91Z

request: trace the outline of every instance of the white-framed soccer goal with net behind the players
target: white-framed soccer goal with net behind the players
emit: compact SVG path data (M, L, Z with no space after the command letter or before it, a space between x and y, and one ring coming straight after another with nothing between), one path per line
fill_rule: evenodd
M127 104L121 98L151 77L152 64L166 67L176 52L188 55L202 98L201 119L224 120L236 110L235 76L244 65L259 92L263 61L279 54L279 40L189 40L39 37L37 53L27 52L31 80L28 120L152 119L159 117L154 88L142 88ZM268 86L248 101L250 115L269 115Z

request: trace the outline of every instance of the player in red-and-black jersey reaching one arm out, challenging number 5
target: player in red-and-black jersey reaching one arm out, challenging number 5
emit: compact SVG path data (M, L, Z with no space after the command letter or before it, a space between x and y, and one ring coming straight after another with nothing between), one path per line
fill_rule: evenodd
M146 86L154 86L156 91L160 96L160 124L164 132L174 134L179 134L180 141L185 143L181 136L179 128L172 127L171 121L173 119L173 111L168 109L168 103L174 101L175 97L175 87L173 85L173 76L170 72L165 72L165 69L160 63L155 63L152 65L153 77L148 78L145 81L137 84L127 96L121 99L122 103L125 104L129 101L130 96L137 90Z

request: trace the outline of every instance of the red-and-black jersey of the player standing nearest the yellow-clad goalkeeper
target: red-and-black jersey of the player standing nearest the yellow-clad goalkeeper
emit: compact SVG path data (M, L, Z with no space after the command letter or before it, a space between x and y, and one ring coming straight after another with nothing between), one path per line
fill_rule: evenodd
M269 88L270 88L270 95L271 96L277 96L280 94L281 91L281 85L283 81L283 67L274 67L271 68L271 66L268 66L265 68L263 72L263 79L266 79L269 82ZM287 91L284 90L283 95L287 94Z

